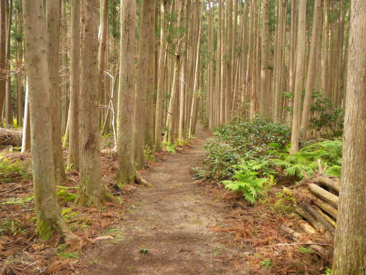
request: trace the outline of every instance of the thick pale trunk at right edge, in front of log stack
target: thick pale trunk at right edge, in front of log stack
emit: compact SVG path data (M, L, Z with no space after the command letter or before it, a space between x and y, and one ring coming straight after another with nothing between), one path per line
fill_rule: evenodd
M351 1L334 275L366 274L366 2Z

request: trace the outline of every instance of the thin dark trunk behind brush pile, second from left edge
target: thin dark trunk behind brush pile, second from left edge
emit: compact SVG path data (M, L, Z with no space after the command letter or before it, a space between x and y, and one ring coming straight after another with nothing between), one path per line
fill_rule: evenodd
M7 3L7 27L6 27L6 95L5 95L5 122L8 128L12 128L13 125L13 104L12 104L12 96L11 96L11 76L10 76L10 34L11 34L11 17L13 11L13 1L6 1Z

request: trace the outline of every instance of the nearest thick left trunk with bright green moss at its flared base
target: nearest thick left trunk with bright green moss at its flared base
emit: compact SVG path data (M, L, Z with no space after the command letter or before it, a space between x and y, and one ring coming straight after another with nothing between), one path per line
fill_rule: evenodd
M48 44L43 0L23 1L23 11L29 77L36 233L41 239L47 239L56 231L67 239L73 239L76 236L62 219L56 198L52 121L45 119L51 117L53 110L49 94Z

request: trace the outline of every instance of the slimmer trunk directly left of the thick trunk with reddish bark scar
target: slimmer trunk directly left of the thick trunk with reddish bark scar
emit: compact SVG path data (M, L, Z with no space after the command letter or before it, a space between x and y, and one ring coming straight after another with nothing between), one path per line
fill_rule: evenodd
M79 142L79 95L80 95L80 0L71 1L71 78L69 111L69 157L68 166L80 168Z

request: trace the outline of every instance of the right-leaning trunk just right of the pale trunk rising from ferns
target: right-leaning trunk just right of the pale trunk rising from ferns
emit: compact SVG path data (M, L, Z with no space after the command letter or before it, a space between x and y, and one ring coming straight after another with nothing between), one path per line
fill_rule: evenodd
M301 120L301 128L304 131L302 140L306 140L307 137L307 131L308 131L307 128L309 126L309 119L310 119L311 94L313 93L315 85L317 40L318 40L318 32L320 31L321 28L321 19L322 19L321 1L322 0L315 0L314 3L314 17L313 17L313 27L311 28L309 65L307 66L306 89L305 89L305 98L304 98L302 120Z

